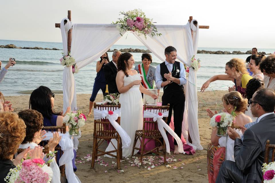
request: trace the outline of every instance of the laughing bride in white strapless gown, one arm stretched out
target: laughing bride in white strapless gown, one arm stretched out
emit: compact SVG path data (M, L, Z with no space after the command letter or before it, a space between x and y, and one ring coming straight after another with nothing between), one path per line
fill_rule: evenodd
M122 156L127 158L133 150L135 131L142 130L143 124L143 102L140 92L157 99L158 96L149 92L141 85L141 75L133 68L135 60L131 53L122 53L117 61L117 77L115 79L117 89L120 93L119 103L121 104L120 126L131 138L131 145L122 149ZM113 142L113 144L116 144ZM136 143L140 147L140 142ZM114 150L112 143L109 144L106 151ZM136 154L138 150L134 151ZM112 153L116 154L116 153ZM105 155L106 156L106 155ZM107 157L112 157L108 156ZM113 157L112 157L113 158Z

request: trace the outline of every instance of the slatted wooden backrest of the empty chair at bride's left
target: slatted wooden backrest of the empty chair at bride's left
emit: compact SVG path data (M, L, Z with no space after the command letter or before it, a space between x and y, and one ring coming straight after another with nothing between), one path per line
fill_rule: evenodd
M107 111L115 111L120 108L119 105L100 105L94 104L94 108L98 110L107 110ZM120 117L117 118L116 122L120 125ZM115 128L111 125L106 116L104 119L94 120L94 137L97 138L105 138L112 139L118 138L119 134L115 130Z

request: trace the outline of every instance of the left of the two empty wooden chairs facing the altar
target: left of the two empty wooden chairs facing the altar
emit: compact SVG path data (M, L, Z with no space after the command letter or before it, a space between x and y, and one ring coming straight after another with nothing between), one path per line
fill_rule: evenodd
M98 110L107 110L114 111L120 108L119 105L99 105L94 104L94 108ZM120 117L117 118L116 122L120 125ZM99 140L98 140L99 139ZM117 147L111 142L112 139L117 140ZM99 146L104 142L104 140L110 140L110 143L113 145L115 150L105 152L104 150L100 150ZM98 154L100 152L100 154ZM116 152L117 155L111 154L112 152ZM105 119L94 120L94 135L93 135L93 154L92 154L92 163L91 168L95 167L95 160L98 156L102 156L104 154L108 154L109 156L113 156L117 158L117 169L120 170L120 160L122 159L122 143L121 138L115 128L109 122L107 116Z

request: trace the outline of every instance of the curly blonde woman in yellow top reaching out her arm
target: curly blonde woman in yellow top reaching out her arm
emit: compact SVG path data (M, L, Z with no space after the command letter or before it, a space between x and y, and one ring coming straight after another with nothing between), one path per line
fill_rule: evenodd
M244 60L239 58L233 58L225 64L225 74L214 75L208 79L201 87L201 92L209 86L213 81L228 80L233 81L235 86L229 87L228 91L238 91L242 96L245 96L246 84L252 77L247 73Z

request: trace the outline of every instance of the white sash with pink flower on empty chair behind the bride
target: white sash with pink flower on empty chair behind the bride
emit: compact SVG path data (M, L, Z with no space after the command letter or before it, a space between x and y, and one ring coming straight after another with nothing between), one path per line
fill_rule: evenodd
M117 133L121 137L121 142L122 142L122 148L127 148L131 144L131 138L130 136L121 128L121 126L115 121L117 118L120 116L120 108L117 110L112 111L113 114L109 114L108 110L98 110L94 108L94 119L99 120L99 119L105 119L106 116L109 120L109 122L113 125L115 130L117 130Z

